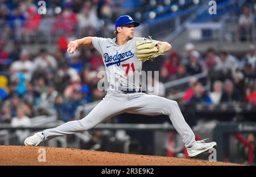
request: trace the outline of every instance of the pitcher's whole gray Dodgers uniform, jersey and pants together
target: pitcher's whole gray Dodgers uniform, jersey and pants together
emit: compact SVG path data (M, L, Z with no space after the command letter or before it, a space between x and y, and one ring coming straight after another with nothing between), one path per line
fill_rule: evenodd
M105 120L123 112L143 115L167 115L180 134L186 147L195 144L195 134L185 122L180 108L174 100L143 92L126 94L121 88L141 87L140 74L142 62L136 56L135 42L145 40L134 37L126 44L119 46L115 39L93 37L93 46L101 53L108 75L110 87L104 99L83 119L70 121L59 127L43 131L46 140L89 130Z

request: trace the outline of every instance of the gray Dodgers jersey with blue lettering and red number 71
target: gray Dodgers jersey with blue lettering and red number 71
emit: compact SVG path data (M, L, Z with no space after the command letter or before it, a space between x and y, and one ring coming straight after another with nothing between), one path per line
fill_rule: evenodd
M109 85L126 89L141 87L142 62L138 60L135 45L136 41L141 40L146 38L133 37L126 44L117 45L115 38L93 37L93 46L100 52L104 61Z

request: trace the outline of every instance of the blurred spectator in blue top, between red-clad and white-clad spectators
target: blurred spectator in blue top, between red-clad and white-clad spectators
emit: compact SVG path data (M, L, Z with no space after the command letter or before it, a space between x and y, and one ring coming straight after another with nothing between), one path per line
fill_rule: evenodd
M212 100L210 99L210 96L208 95L208 93L204 90L203 85L200 82L197 82L195 86L194 94L188 103L212 104Z

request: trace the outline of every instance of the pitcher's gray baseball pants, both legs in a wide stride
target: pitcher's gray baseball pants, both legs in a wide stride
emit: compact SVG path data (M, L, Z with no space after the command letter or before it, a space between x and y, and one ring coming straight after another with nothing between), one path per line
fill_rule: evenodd
M79 133L92 129L103 121L124 112L149 116L167 115L185 146L189 147L195 144L195 134L185 122L177 102L142 92L124 94L121 91L108 91L105 98L83 119L46 129L43 134L46 140L51 140L65 134Z

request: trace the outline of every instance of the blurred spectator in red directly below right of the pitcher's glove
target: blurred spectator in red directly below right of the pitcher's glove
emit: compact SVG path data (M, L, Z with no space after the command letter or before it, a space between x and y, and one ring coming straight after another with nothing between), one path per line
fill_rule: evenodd
M174 75L177 73L178 66L180 65L180 57L179 54L173 51L170 54L168 60L166 60L163 64L163 68L168 70L168 75Z

